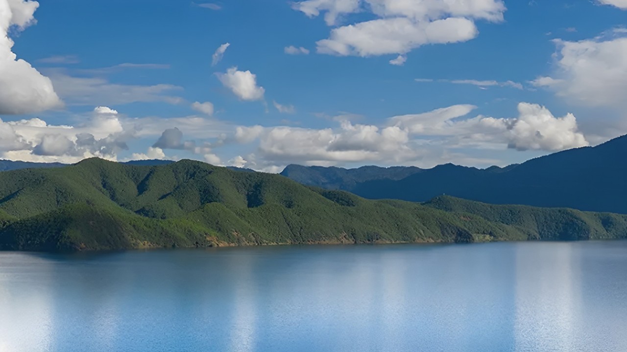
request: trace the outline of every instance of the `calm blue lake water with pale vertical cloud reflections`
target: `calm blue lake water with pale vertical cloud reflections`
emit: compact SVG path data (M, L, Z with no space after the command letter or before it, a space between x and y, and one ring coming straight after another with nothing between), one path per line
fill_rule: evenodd
M0 253L0 351L627 351L627 242Z

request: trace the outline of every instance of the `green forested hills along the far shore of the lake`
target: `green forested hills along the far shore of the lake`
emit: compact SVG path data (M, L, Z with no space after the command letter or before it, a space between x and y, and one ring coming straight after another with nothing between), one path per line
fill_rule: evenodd
M191 160L137 166L92 158L0 173L4 250L606 239L627 237L626 224L623 215L449 197L425 205L366 200Z

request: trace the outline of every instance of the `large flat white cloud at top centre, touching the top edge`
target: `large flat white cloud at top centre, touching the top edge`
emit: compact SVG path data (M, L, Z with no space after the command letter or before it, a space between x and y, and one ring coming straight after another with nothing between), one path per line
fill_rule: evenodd
M424 44L468 41L478 34L475 19L498 22L505 12L501 0L307 0L293 8L309 17L324 12L329 26L347 14L369 11L377 17L334 28L317 42L319 53L339 56L404 55Z

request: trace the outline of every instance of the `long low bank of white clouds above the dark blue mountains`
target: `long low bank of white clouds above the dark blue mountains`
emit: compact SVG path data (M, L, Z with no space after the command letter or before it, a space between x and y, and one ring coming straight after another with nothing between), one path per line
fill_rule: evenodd
M337 118L339 126L335 128L238 127L235 140L239 143L258 141L258 149L255 158L229 163L246 162L247 167L266 168L288 163L478 162L476 157L448 150L510 148L554 152L588 145L572 114L556 117L544 106L520 103L519 115L513 118L469 117L476 108L453 105L426 113L393 116L381 126Z

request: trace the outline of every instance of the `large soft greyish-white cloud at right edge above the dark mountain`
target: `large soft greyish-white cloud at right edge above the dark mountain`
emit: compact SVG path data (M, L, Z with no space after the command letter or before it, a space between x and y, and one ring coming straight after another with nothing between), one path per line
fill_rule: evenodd
M551 76L532 81L573 103L627 108L627 38L622 31L582 41L557 40L559 51Z

